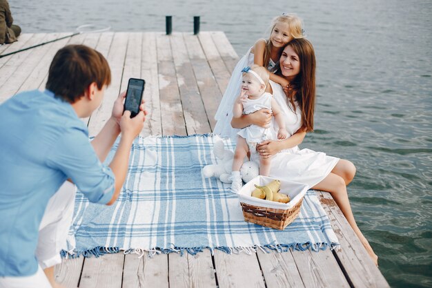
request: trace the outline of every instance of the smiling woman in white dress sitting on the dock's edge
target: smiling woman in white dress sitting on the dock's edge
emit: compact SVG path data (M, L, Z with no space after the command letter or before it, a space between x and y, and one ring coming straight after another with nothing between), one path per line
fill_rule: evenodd
M355 231L369 256L377 265L377 256L355 223L354 215L346 192L355 175L355 166L348 160L340 160L325 153L300 149L307 132L313 131L315 108L315 52L306 39L294 39L284 48L279 59L279 74L290 85L282 86L272 82L268 92L273 94L285 114L288 137L285 140L266 140L257 145L262 157L273 157L271 177L308 184L312 189L328 191L344 213L346 220ZM234 128L251 124L266 126L271 121L270 111L262 109L256 113L233 118ZM277 124L273 124L277 131Z

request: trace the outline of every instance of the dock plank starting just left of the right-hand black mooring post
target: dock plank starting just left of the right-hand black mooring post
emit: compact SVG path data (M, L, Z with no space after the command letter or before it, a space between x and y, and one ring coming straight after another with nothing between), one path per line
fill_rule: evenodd
M192 64L195 78L199 87L199 93L206 109L208 121L210 122L211 130L215 128L215 114L217 107L222 100L222 93L220 92L219 86L213 72L206 60L206 55L199 44L197 36L184 34L184 40L190 63Z

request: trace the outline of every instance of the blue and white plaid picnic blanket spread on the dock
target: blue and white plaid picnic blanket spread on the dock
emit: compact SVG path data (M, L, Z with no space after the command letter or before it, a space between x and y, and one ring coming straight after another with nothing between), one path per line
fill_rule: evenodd
M228 253L258 248L317 251L338 245L313 191L306 193L300 215L284 231L244 222L229 185L202 177L202 167L216 162L213 144L219 139L193 135L135 140L128 177L115 204L92 204L77 193L63 256L120 250L197 253L205 248ZM233 148L230 142L226 146Z

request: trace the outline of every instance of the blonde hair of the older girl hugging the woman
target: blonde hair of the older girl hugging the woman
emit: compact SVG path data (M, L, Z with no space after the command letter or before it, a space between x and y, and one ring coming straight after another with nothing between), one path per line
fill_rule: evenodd
M271 32L273 32L273 29L275 28L277 23L288 24L289 33L294 39L301 39L305 37L303 35L302 19L300 19L300 17L298 17L294 13L289 13L289 14L284 13L281 16L275 17L273 21L271 21L270 34ZM266 48L264 48L264 62L263 62L264 67L268 67L268 62L270 62L270 54L272 49L273 49L273 44L270 41L270 37L268 37Z

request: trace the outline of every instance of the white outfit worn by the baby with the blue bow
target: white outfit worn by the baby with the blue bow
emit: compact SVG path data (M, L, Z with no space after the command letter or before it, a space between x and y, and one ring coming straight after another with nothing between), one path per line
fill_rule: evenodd
M247 98L243 102L243 114L251 114L261 109L271 109L271 98L272 95L267 92L263 93L257 99ZM275 137L273 126L264 128L257 125L250 125L240 129L237 134L242 136L248 144L258 144L264 140L277 139L277 137Z

